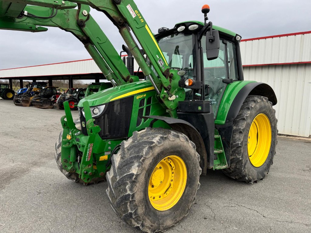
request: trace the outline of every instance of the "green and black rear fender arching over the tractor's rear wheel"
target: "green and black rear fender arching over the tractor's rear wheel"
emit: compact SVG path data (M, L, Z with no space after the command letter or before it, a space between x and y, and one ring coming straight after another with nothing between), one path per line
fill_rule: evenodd
M272 102L272 105L276 105L277 103L273 89L265 83L258 83L255 81L233 82L227 85L223 94L215 125L224 125L233 122L248 95L264 96Z

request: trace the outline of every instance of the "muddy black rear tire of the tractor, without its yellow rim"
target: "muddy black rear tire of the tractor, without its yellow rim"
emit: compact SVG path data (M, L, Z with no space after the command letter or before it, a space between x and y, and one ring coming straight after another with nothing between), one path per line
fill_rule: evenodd
M248 158L248 132L253 119L264 113L271 124L272 140L269 154L266 161L260 167L254 167ZM222 172L235 180L247 183L257 182L263 179L273 164L273 157L276 153L277 128L275 110L268 98L250 95L248 96L233 122L233 133L231 139L230 167L222 169Z

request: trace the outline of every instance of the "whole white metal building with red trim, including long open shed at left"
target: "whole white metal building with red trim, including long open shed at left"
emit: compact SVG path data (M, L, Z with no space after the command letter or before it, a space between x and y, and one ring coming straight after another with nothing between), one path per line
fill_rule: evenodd
M311 31L244 39L244 79L274 89L280 134L311 135ZM134 71L138 65L134 63ZM0 79L102 79L92 59L0 70ZM21 82L22 83L22 82ZM12 84L12 83L11 83Z

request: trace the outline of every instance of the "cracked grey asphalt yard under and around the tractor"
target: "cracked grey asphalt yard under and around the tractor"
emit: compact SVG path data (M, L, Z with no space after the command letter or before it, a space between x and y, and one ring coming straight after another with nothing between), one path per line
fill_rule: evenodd
M0 99L0 232L139 232L110 208L107 183L76 184L58 170L63 115ZM311 232L310 157L311 142L279 138L258 183L208 171L188 216L167 232Z

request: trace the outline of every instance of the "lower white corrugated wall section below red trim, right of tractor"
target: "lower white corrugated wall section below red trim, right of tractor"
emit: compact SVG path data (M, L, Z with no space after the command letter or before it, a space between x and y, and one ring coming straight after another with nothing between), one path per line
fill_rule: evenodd
M275 91L280 134L311 135L311 64L247 66L243 71L245 80L267 83Z

